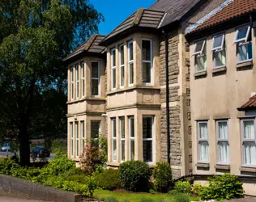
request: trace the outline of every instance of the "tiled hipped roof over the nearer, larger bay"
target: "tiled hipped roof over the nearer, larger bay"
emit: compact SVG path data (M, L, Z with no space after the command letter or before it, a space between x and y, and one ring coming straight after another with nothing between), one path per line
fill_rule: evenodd
M117 36L118 34L127 31L131 27L157 28L163 16L163 11L153 11L141 8L134 12L134 14L130 15L129 18L122 22L112 32L110 32L109 35L106 36L104 40L102 40L102 42L105 42L113 36Z

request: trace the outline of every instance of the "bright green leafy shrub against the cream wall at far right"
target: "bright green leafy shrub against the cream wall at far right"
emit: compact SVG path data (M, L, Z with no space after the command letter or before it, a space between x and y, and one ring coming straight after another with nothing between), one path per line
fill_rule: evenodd
M199 195L203 200L231 200L244 196L243 183L234 175L215 175L208 180L209 186Z

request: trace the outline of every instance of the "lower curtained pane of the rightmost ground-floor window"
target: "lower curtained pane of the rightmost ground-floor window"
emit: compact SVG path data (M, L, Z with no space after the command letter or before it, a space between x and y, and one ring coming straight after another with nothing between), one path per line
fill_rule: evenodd
M255 142L244 142L245 165L256 165L256 144Z

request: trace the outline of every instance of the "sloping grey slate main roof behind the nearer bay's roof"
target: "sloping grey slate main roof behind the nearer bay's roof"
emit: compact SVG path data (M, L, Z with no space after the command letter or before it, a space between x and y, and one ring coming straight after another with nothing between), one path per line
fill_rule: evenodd
M158 0L149 9L164 11L166 16L160 27L180 20L188 11L190 11L201 0Z

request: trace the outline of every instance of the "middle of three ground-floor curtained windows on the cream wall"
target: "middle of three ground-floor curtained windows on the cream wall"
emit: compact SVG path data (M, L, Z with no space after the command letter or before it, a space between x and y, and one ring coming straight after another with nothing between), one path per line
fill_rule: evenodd
M228 120L216 122L218 163L229 164Z

